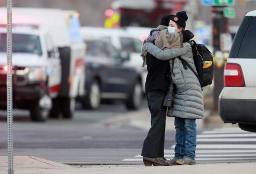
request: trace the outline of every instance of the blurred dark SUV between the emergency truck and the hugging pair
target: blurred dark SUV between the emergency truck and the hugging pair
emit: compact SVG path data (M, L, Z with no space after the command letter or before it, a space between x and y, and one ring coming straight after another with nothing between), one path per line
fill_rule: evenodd
M128 109L138 109L142 100L142 78L136 68L124 64L115 47L104 39L86 40L85 95L83 108L96 109L101 100L120 100Z

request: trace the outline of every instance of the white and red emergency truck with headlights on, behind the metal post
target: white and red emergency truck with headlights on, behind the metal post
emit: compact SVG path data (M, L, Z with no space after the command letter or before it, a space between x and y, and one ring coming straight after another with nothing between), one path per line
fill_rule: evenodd
M84 92L85 44L79 14L13 8L13 107L29 109L33 121L71 118ZM6 109L6 8L0 8L0 108Z

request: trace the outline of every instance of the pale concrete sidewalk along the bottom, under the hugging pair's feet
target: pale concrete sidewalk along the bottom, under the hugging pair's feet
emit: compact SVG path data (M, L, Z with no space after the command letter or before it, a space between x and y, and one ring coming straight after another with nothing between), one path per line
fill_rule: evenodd
M7 174L7 157L0 156L0 174ZM254 174L256 162L194 166L104 165L68 166L33 156L14 156L15 174Z

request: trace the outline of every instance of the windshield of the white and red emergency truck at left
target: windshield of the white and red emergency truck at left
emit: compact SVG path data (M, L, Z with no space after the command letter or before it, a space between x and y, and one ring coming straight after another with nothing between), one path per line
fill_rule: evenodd
M0 52L6 52L6 33L0 33ZM12 34L12 52L42 55L39 36Z

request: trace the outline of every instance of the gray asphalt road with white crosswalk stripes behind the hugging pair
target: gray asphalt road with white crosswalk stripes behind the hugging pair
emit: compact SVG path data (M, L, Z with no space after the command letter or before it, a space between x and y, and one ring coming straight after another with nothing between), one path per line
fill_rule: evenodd
M122 104L101 105L96 111L77 107L74 118L32 122L27 111L14 110L14 155L29 155L68 164L141 164L140 156L147 129L138 123L147 110L146 101L138 111L128 111ZM145 116L145 115L144 115ZM129 117L133 123L130 124ZM136 125L136 126L134 126ZM175 131L166 131L166 156L174 155ZM232 127L199 129L197 161L256 161L256 135ZM0 155L7 154L6 112L0 111Z

